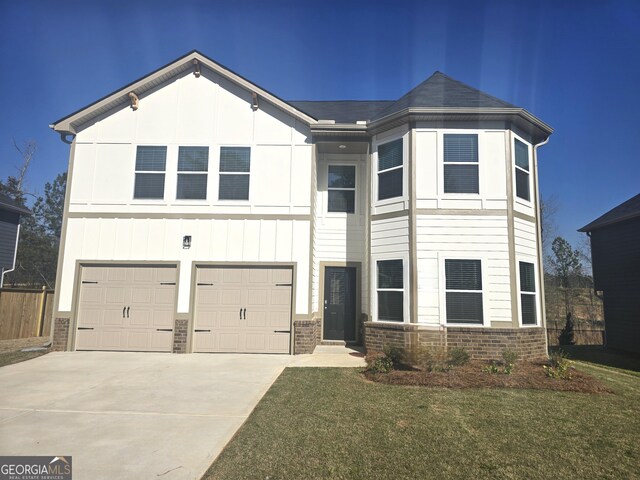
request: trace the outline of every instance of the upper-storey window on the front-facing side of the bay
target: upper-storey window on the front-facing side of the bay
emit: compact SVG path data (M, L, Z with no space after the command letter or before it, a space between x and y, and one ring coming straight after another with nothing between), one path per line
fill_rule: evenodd
M478 135L444 136L444 193L479 193Z

